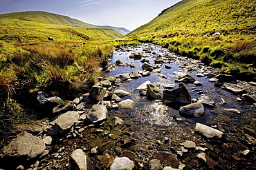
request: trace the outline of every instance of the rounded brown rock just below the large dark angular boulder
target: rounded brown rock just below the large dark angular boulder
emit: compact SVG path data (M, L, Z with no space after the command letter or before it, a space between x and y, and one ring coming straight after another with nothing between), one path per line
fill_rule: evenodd
M199 118L205 115L205 109L200 102L185 105L179 109L179 114L185 118Z

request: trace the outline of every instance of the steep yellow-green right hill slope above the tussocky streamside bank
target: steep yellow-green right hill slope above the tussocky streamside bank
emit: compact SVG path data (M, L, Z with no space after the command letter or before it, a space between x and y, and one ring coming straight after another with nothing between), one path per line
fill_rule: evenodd
M255 0L183 0L163 10L129 36L166 37L174 36L175 32L196 36L213 29L223 33L255 34L255 4Z

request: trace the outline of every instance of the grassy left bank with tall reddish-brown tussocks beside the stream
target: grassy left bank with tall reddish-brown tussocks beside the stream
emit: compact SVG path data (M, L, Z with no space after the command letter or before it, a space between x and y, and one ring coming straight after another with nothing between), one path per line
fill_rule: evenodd
M75 96L88 92L98 78L99 63L112 55L114 47L135 44L138 41L1 41L0 138L15 130L17 125L42 118L38 115L42 113L33 109L37 105L37 92L73 100Z

